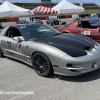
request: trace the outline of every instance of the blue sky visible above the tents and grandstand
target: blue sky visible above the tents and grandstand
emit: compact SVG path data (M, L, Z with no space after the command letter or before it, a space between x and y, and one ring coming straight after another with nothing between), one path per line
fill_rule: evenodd
M6 1L9 1L9 2L36 2L36 3L39 2L39 0L6 0ZM54 3L57 3L57 1L60 2L62 0L52 0L52 2L54 2ZM67 0L67 1L72 2L72 3L74 3L74 2L79 3L79 2L82 2L82 1L83 1L83 3L94 2L94 3L96 3L97 5L100 6L100 0ZM0 0L0 2L4 2L4 0Z

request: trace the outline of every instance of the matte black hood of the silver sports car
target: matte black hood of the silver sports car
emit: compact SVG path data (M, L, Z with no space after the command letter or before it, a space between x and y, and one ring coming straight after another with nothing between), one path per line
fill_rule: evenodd
M86 50L90 51L97 43L88 37L78 34L66 34L52 36L36 40L36 42L45 43L64 51L72 57L86 55Z

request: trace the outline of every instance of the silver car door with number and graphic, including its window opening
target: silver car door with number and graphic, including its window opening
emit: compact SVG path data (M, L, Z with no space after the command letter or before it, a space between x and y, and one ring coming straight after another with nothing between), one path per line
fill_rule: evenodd
M1 47L3 48L4 54L27 61L28 56L25 55L25 41L18 42L13 39L18 36L22 36L18 29L8 29L5 36L1 39Z

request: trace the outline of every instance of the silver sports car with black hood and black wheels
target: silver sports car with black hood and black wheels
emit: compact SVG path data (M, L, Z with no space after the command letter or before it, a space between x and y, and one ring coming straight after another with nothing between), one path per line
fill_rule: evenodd
M42 24L5 28L0 35L0 57L3 56L32 65L40 76L75 76L100 67L100 45L95 41Z

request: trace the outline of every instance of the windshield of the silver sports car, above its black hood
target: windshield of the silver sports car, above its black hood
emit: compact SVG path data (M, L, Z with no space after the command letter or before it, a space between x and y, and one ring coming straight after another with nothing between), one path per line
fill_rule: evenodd
M49 36L54 36L56 34L60 34L59 31L45 25L23 26L20 28L20 32L22 33L25 40L37 38L37 37L39 38L49 37Z

